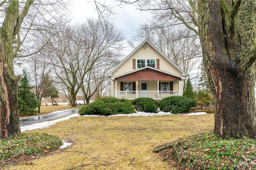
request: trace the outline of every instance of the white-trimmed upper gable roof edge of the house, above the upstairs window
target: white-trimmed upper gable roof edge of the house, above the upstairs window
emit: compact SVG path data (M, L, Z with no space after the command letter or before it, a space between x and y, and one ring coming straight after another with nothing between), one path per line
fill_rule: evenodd
M156 46L153 45L149 40L144 40L129 55L127 55L118 65L116 65L114 69L112 69L108 73L108 77L111 77L112 73L114 73L118 68L120 68L128 59L130 59L130 57L132 57L145 43L148 43L155 51L157 51L162 57L164 57L167 61L169 61L169 63L171 63L176 69L178 69L182 73L182 76L186 76L186 73L180 67L178 67L178 65L176 65L170 58L168 58L164 53L162 53L162 51L156 48Z

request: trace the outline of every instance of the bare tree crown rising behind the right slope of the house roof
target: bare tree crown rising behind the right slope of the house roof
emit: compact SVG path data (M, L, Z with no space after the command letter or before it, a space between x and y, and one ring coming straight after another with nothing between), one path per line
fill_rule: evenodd
M158 49L168 56L188 75L200 62L201 46L199 38L189 29L179 29L176 26L158 25L158 22L142 24L137 29L135 41L150 40ZM186 82L184 82L185 87Z

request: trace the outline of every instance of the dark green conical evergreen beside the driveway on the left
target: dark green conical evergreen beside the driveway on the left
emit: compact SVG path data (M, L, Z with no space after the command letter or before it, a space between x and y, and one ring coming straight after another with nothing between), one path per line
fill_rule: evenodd
M30 90L33 87L29 85L28 75L23 70L22 80L18 86L18 111L19 115L32 115L36 113L38 107L38 100L34 93Z

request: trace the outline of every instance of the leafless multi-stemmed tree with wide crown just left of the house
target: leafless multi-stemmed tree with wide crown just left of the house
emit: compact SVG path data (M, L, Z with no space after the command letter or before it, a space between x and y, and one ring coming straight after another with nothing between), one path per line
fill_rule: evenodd
M76 95L92 69L104 66L101 63L108 57L118 56L122 47L121 32L112 23L100 20L88 19L47 36L53 36L48 48L50 63L72 106L76 106Z

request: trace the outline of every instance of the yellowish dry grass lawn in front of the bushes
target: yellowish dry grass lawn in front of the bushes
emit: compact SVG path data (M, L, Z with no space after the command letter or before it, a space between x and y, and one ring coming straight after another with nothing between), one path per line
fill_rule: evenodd
M74 142L16 170L166 170L170 166L152 150L177 138L213 130L214 114L154 117L76 117L33 130Z

